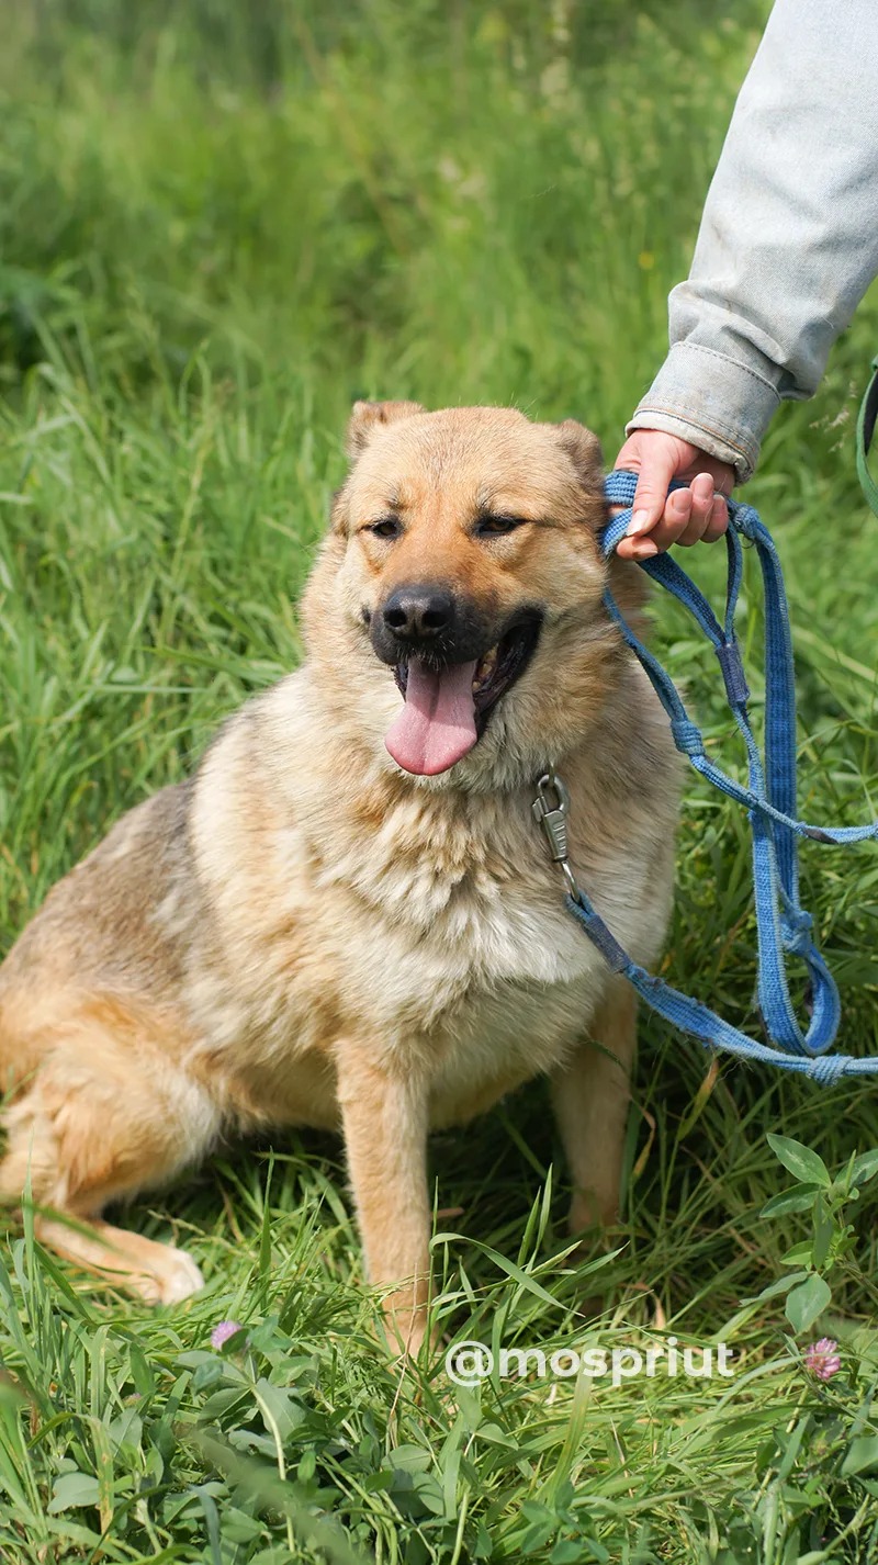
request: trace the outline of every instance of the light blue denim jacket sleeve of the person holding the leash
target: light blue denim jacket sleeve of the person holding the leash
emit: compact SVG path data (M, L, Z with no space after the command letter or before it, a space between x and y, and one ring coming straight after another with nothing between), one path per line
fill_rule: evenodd
M876 272L878 0L776 0L628 430L681 435L743 482Z

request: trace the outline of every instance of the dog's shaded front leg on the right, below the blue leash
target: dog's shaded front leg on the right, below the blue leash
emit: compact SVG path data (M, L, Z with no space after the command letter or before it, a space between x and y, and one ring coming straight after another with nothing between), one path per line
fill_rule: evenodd
M570 1229L618 1221L621 1155L637 1044L637 995L612 978L584 1041L552 1075L552 1102L573 1175Z

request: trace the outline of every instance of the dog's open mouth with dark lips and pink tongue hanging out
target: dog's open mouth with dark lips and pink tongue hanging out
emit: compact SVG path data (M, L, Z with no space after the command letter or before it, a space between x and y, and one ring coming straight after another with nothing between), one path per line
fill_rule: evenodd
M542 615L527 610L477 659L432 664L410 657L396 664L405 706L385 736L396 764L416 776L435 776L460 761L482 737L499 698L524 673L540 628Z

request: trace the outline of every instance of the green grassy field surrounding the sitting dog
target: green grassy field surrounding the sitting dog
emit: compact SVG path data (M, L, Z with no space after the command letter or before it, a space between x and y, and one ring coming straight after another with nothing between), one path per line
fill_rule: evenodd
M8 8L2 950L124 809L296 664L355 396L573 415L612 460L765 9ZM787 568L811 820L876 812L878 523L853 466L876 346L872 297L815 402L778 416L748 491ZM720 590L717 552L684 563ZM739 765L712 654L656 617L711 745ZM876 878L870 847L804 853L848 1052L878 1052ZM745 822L695 778L678 883L665 970L757 1028ZM567 1252L542 1085L435 1139L437 1313L498 1349L725 1340L732 1379L455 1388L440 1358L402 1371L376 1347L340 1146L230 1147L125 1219L193 1250L207 1291L188 1305L102 1296L8 1222L0 1557L873 1557L872 1169L762 1211L795 1178L825 1182L779 1144L784 1169L767 1133L850 1175L878 1146L875 1089L715 1064L650 1017L640 1041L624 1222L592 1268ZM803 1265L831 1304L790 1322L784 1279ZM246 1337L218 1352L222 1319ZM826 1382L803 1362L820 1335L840 1343Z

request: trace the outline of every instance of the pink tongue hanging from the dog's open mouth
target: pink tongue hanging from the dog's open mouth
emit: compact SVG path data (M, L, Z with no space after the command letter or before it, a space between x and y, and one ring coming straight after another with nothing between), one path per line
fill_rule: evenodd
M412 659L405 706L383 740L404 772L432 778L473 748L477 737L474 673L476 662L454 664L437 675Z

